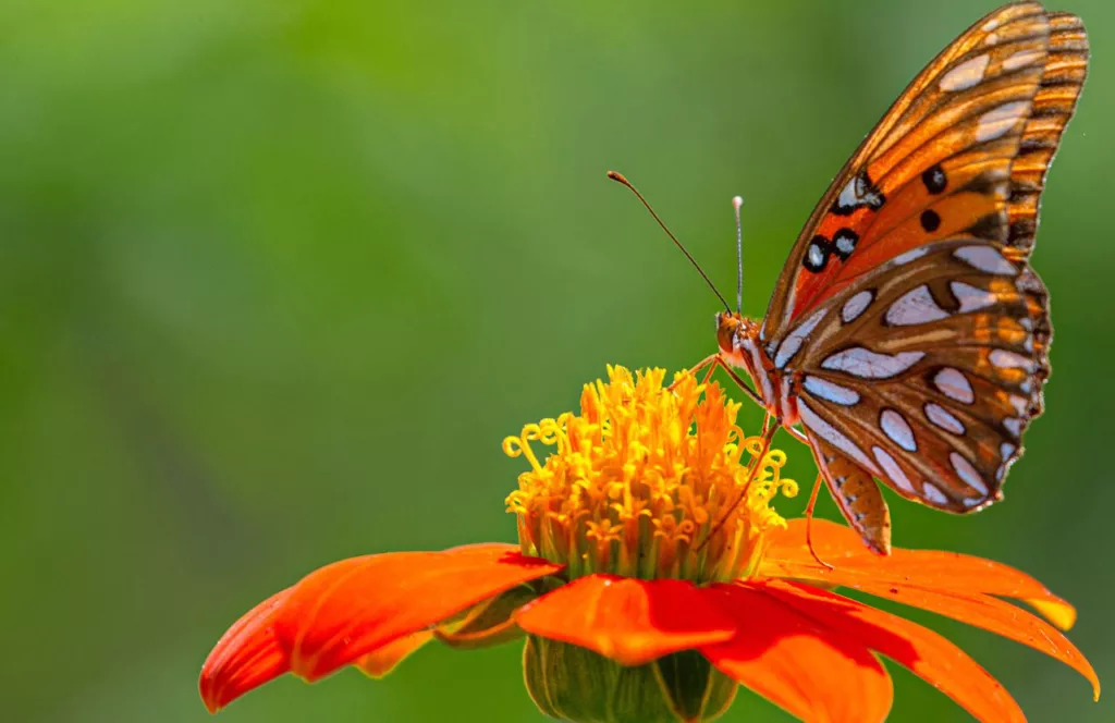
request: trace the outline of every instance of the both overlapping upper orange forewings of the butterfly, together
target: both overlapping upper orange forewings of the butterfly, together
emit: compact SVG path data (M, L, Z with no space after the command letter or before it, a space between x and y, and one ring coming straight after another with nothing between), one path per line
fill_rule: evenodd
M1086 67L1079 19L1035 2L1000 8L957 38L817 204L783 268L760 338L769 346L859 274L966 229L1004 243L1014 235L1027 253L1045 170Z

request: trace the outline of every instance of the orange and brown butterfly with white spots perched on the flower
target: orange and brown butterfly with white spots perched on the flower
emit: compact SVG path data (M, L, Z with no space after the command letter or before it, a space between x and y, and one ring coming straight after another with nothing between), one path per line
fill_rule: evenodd
M1053 328L1028 258L1087 64L1076 16L1017 2L979 20L841 170L766 316L717 315L718 351L695 368L750 376L769 434L809 445L875 552L889 553L891 526L874 480L980 510L1002 498L1043 412Z

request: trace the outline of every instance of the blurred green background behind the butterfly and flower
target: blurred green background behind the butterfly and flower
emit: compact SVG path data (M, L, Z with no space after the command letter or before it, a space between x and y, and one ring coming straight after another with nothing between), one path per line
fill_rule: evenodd
M1036 254L1048 412L1005 504L959 519L891 499L898 544L1004 560L1077 604L1073 638L1111 684L1115 7L1066 6L1094 61ZM762 314L847 154L991 8L0 2L4 720L205 721L211 646L306 571L512 540L504 435L607 363L714 348L715 299L604 171L726 291L743 194ZM911 617L1031 720L1112 720L1068 668ZM429 647L382 682L283 678L219 720L535 721L518 658ZM895 679L893 720L964 720ZM726 720L785 716L744 692Z

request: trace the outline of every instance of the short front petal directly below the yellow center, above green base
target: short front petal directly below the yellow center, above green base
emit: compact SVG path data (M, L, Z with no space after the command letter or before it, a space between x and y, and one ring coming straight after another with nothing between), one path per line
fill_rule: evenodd
M612 575L578 578L529 602L518 626L572 643L623 665L727 640L731 619L687 580L638 580Z

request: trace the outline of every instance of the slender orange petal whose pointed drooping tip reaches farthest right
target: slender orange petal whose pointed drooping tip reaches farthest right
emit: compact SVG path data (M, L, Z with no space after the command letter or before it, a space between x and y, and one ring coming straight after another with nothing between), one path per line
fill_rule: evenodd
M840 568L836 569L836 572L840 572ZM1092 683L1093 695L1097 701L1099 700L1099 678L1084 654L1060 630L1016 605L978 592L939 592L917 587L892 586L885 582L855 580L854 585L849 587L854 587L869 595L946 615L954 620L975 625L996 635L1028 645L1057 658L1088 678L1088 682Z

